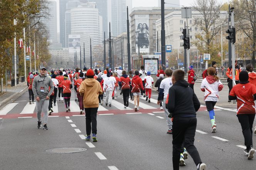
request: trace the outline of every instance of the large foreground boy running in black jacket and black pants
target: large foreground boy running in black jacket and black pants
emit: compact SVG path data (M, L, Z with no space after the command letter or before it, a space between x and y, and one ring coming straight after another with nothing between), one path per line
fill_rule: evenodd
M169 89L168 112L173 117L172 125L172 163L173 170L179 170L180 151L182 143L193 158L197 170L206 170L197 148L194 146L196 113L200 102L192 88L184 80L185 72L176 70L172 75L173 86ZM186 106L186 107L184 107ZM183 148L182 148L183 149Z

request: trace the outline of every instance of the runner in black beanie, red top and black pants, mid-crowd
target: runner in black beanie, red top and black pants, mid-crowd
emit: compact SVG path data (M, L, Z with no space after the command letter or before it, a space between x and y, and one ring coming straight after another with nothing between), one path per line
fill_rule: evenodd
M123 70L122 76L119 78L119 86L123 93L124 108L129 106L130 84L131 80L126 74L126 71Z

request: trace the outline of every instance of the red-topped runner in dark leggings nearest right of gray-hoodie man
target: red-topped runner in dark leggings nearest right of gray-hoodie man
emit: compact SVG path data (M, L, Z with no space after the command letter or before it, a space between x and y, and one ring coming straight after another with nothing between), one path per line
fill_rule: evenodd
M63 97L65 100L66 112L70 112L70 97L72 83L68 80L68 75L64 75L64 80L61 82L61 87L63 88Z

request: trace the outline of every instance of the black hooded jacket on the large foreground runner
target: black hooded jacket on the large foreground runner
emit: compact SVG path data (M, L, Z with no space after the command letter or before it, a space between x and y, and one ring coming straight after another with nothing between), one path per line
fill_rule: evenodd
M168 112L172 117L193 117L200 102L186 80L175 82L169 89Z

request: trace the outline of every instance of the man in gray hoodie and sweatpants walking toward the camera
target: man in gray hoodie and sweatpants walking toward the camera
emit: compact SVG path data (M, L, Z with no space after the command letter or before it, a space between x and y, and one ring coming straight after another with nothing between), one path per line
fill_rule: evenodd
M47 120L48 120L48 106L49 106L49 98L54 90L54 85L50 77L46 75L46 68L41 67L40 74L35 76L32 90L36 99L36 112L37 112L37 128L42 126L41 121L41 112L44 112L44 130L48 130L47 128Z

